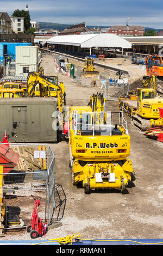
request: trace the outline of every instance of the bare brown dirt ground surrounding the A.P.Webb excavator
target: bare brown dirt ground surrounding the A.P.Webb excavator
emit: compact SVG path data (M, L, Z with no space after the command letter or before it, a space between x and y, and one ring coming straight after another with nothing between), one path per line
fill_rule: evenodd
M43 56L41 65L45 75L49 71L56 74L52 56ZM85 106L91 94L103 92L101 88L79 86L62 74L59 74L59 81L65 84L67 106ZM109 95L115 95L118 90L110 87ZM107 110L118 111L118 101L107 102ZM146 138L143 132L131 125L130 118L128 131L131 137L129 159L133 162L135 180L127 194L115 190L85 194L84 188L77 188L71 183L67 143L49 144L55 155L55 179L64 188L67 200L64 217L60 221L62 225L48 230L47 235L39 237L39 240L76 232L83 239L162 239L163 143ZM8 232L0 240L30 240L30 236L23 230Z

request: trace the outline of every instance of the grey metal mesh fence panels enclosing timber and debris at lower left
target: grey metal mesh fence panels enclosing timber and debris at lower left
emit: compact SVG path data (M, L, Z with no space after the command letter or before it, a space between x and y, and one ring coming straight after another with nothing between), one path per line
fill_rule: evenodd
M55 211L55 158L45 144L0 143L3 166L3 204L5 229L30 224L34 200L40 199L39 217L53 221Z

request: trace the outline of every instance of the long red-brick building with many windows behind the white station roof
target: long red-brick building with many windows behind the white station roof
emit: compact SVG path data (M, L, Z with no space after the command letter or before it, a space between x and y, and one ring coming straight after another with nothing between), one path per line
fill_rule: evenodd
M143 36L145 33L145 27L142 26L111 26L108 33L116 35L135 35Z

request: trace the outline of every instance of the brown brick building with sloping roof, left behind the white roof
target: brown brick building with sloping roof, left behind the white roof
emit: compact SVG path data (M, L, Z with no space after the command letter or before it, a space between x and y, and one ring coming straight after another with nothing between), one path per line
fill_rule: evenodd
M67 27L64 29L64 31L61 31L58 35L78 35L81 34L82 32L87 32L90 31L85 27L85 22L72 25L70 27Z

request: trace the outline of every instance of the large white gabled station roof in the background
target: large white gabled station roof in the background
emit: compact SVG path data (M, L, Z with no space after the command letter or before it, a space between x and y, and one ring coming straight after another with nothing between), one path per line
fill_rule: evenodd
M131 48L131 43L115 34L58 35L47 40L48 44L74 45L81 48L121 47Z

